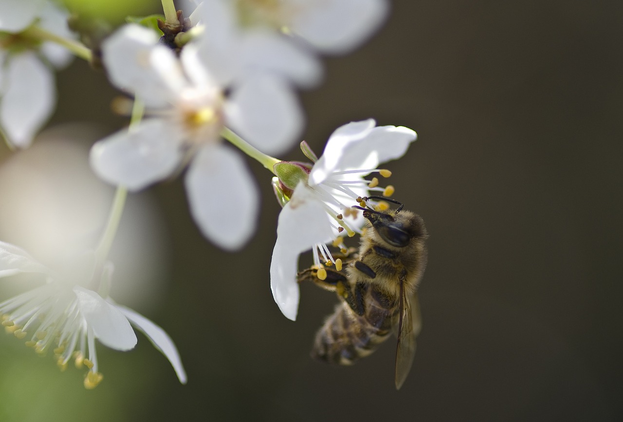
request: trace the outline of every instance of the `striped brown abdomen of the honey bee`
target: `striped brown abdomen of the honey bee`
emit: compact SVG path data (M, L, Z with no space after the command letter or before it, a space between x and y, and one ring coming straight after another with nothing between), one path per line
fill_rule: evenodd
M391 334L396 301L367 284L364 312L358 315L342 302L325 321L314 340L312 357L329 363L350 365L366 357Z

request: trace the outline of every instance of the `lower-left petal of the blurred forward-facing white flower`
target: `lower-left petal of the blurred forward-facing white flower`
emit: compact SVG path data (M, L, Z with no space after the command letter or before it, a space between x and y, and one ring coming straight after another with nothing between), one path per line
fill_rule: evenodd
M181 161L180 131L166 120L148 119L123 129L91 148L93 171L104 181L130 190L168 177Z

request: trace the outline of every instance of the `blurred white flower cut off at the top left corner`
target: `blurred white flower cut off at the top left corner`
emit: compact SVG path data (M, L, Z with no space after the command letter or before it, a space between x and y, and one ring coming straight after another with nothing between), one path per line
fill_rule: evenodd
M68 13L52 1L0 0L0 128L7 141L26 148L54 112L54 68L72 55L52 42L22 36L32 24L65 39Z

